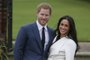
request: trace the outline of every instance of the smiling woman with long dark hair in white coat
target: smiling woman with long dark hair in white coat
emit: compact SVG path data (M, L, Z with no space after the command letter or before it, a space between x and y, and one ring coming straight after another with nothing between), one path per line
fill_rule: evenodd
M56 37L49 50L48 60L74 60L78 50L77 33L71 16L59 19Z

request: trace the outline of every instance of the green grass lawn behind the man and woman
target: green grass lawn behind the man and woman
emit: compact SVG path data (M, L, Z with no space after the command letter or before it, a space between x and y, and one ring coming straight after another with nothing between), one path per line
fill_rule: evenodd
M21 26L36 20L36 7L41 2L52 5L53 13L48 25L56 28L63 15L74 18L79 41L90 41L90 2L83 0L13 0L13 39Z

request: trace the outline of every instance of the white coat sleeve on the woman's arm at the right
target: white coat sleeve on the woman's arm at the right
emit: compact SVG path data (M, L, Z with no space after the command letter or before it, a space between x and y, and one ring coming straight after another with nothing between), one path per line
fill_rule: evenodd
M74 60L75 51L76 51L75 42L72 40L68 41L65 48L66 60Z

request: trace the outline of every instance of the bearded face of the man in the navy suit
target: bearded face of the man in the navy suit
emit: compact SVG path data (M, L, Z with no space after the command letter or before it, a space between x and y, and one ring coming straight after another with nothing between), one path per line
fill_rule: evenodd
M41 9L40 12L37 13L38 22L44 26L48 22L50 18L50 10L49 9Z

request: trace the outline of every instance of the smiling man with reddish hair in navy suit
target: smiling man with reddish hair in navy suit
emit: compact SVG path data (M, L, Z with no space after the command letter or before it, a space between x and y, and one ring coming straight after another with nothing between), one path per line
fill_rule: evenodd
M49 47L55 36L47 26L52 9L48 3L41 3L37 8L37 20L21 27L16 38L14 60L47 60ZM42 46L42 28L45 29L44 51Z

